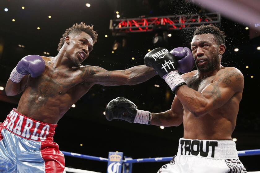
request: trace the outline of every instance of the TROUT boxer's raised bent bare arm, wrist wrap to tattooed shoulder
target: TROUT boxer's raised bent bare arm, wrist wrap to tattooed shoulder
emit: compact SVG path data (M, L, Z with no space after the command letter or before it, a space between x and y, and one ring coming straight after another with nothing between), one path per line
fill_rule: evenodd
M194 116L200 117L220 108L236 93L242 95L243 78L243 74L238 69L229 67L219 70L214 81L206 86L201 93L186 85L180 86L175 93L185 108L192 112Z

